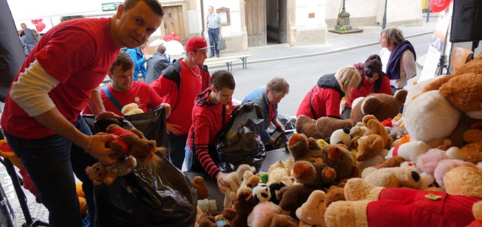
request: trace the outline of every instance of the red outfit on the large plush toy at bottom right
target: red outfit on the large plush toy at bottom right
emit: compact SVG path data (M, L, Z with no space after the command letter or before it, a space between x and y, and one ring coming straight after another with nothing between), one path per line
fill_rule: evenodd
M429 199L426 195L440 196ZM472 205L479 197L437 191L386 188L366 207L368 226L466 226L474 221Z

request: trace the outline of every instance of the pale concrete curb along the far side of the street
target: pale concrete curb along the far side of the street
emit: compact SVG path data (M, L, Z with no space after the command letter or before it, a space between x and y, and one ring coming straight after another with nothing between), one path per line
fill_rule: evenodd
M412 34L412 35L405 36L405 38L422 36L424 34L430 34L430 33L433 33L433 31ZM377 44L379 44L379 42L364 43L364 44L356 45L356 46L353 46L353 47L340 47L340 48L337 48L335 50L327 50L327 51L324 51L324 52L317 52L317 53L310 53L310 54L297 54L297 55L291 55L291 56L280 56L280 57L277 57L277 58L264 58L264 59L258 59L258 60L253 60L253 61L249 61L249 58L248 58L248 63L249 64L266 63L266 62L270 62L270 61L281 61L281 60L293 59L293 58L307 58L307 57L312 57L312 56L322 56L322 55L326 55L326 54L344 52L344 51L347 51L347 50L354 50L354 49L357 49L357 48L367 47L367 46L370 46L370 45L377 45ZM242 63L240 63L240 62L233 63L233 66L236 66L236 65L242 65ZM213 68L222 68L222 67L226 67L226 65L225 64L213 65L209 68L213 69Z

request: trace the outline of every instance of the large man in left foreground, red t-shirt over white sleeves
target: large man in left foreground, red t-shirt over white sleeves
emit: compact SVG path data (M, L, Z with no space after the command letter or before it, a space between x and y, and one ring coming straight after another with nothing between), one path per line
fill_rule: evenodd
M0 123L49 210L50 226L82 226L74 173L94 224L85 167L97 159L114 163L105 143L116 136L90 136L79 114L88 102L96 118L122 118L105 111L96 87L119 49L147 41L163 15L158 1L125 0L110 19L64 21L43 35L15 76Z

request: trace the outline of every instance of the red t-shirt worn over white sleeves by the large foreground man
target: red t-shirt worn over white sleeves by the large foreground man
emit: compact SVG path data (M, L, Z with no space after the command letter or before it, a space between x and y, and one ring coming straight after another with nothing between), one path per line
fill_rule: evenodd
M107 18L73 19L56 25L25 58L14 82L19 73L38 60L45 72L60 81L49 92L50 98L69 122L75 122L87 105L90 91L105 78L119 52L110 36L109 25ZM6 98L1 127L26 140L56 134L28 116L10 96Z

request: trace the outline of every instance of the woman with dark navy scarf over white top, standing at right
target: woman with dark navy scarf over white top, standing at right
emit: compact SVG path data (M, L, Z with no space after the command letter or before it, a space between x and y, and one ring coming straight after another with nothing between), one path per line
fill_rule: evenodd
M407 85L410 78L417 76L415 49L412 43L404 38L404 32L398 28L386 28L381 31L380 45L382 49L380 57L388 58L386 63L386 75L390 78L392 94Z

